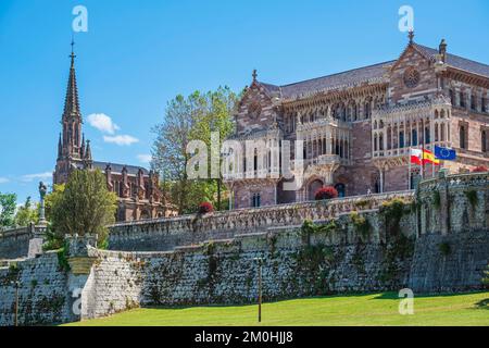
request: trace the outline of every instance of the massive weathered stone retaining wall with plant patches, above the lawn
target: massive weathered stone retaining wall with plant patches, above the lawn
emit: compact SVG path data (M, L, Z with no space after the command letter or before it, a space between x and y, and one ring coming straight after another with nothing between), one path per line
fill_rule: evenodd
M403 203L373 196L303 203L293 214L289 206L220 213L203 216L195 229L189 216L114 226L117 238L127 228L129 246L149 235L167 251L105 251L96 248L95 237L71 237L71 271L52 252L0 269L0 325L12 324L10 282L17 279L21 324L98 318L137 306L251 303L256 258L263 259L265 301L404 287L415 294L481 289L489 263L488 184L488 173L442 172L421 183L414 202L412 195L403 195ZM301 228L305 219L328 228ZM162 226L166 234L158 233ZM216 238L226 228L229 235ZM179 233L193 245L165 241Z

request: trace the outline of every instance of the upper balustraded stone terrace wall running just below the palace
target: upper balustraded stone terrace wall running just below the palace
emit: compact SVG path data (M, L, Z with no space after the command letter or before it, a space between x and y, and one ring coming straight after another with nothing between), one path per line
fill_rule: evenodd
M304 220L327 220L359 209L377 209L386 200L413 199L412 191L349 197L325 202L301 202L237 209L206 215L186 215L117 224L111 227L109 248L125 251L164 251L237 234L266 232L269 227L301 225ZM360 207L360 208L359 208Z

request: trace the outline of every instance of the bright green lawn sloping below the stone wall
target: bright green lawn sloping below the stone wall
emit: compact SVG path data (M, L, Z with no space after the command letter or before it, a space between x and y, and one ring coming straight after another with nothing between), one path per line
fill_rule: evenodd
M400 315L396 293L330 296L263 304L262 325L484 325L489 291L419 296L414 314ZM145 308L70 325L258 325L258 306Z

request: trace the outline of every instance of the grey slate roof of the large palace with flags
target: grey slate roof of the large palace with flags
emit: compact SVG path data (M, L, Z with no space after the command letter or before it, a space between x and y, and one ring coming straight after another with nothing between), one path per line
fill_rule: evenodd
M438 54L438 50L436 49L418 44L414 44L414 46L423 53L425 53L425 55L427 55L428 58L434 59L435 54ZM267 91L271 94L279 94L281 98L293 99L323 90L338 89L341 87L354 86L362 83L377 82L384 77L386 67L393 63L396 63L396 60L284 86L271 85L261 82L260 84L264 86L265 89L267 89ZM478 63L459 55L447 53L447 64L455 69L489 77L489 65Z

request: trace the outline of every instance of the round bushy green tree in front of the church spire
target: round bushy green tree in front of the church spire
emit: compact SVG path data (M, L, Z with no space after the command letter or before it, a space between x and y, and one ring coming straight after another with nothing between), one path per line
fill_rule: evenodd
M51 228L58 239L65 234L97 234L99 243L105 240L106 226L115 222L117 198L99 170L74 171L64 190L51 198Z

